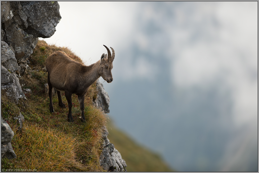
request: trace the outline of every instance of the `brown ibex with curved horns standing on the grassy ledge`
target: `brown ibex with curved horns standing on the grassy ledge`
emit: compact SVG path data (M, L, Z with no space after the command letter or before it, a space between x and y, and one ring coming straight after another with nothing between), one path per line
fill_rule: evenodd
M83 121L85 94L89 87L101 76L108 83L113 81L112 78L112 62L115 57L115 52L112 49L112 55L108 47L103 45L108 51L107 54L101 55L101 60L96 63L85 66L75 60L72 60L65 52L57 51L48 56L46 60L46 68L48 72L49 85L49 111L54 112L52 102L52 88L56 88L58 95L58 105L66 107L62 102L61 91L65 92L65 97L68 102L68 122L73 122L72 117L72 94L78 96L80 110Z

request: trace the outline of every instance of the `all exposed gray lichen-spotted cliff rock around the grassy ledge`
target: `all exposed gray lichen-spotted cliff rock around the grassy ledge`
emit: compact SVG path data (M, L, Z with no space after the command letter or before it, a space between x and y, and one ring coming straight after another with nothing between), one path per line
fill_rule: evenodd
M38 37L51 37L59 23L57 2L1 1L1 91L14 102L26 99L19 78L26 74L29 57L33 53ZM109 112L109 96L102 84L96 83L98 94L93 104ZM17 118L24 121L22 115ZM20 125L21 125L20 124ZM119 152L110 144L108 131L103 127L103 151L100 164L106 171L126 171L127 166ZM1 116L1 158L16 158L11 146L13 131Z

